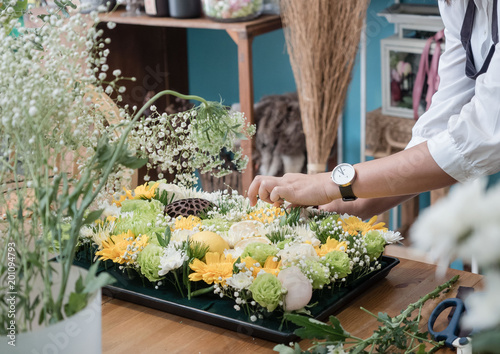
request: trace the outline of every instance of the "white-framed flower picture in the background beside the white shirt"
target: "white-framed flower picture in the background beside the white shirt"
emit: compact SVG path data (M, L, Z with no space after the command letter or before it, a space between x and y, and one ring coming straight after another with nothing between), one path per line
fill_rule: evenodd
M382 39L382 114L413 118L413 86L417 77L425 39L400 38L392 36ZM429 63L434 53L433 44L429 51ZM444 47L444 46L443 46ZM444 51L444 48L442 48ZM419 103L419 115L426 108L424 84Z

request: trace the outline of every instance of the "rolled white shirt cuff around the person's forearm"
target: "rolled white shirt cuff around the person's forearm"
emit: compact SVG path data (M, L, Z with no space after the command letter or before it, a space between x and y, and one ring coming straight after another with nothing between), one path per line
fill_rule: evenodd
M438 166L457 181L465 183L477 177L474 167L457 149L448 131L443 131L429 139L427 147Z

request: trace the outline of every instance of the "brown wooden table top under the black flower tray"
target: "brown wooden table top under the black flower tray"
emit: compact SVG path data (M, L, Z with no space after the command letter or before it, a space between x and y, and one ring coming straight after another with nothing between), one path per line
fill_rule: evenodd
M448 269L444 278L437 278L435 265L401 258L400 261L384 280L353 299L348 307L336 314L346 331L361 338L369 337L378 327L378 322L362 311L361 306L372 313L387 312L395 316L408 304L456 274L460 275L460 279L446 297L455 297L458 286L481 286L482 276L478 274ZM443 298L426 303L422 311L423 326L426 326L431 311ZM441 317L444 316L440 316L438 322ZM273 351L276 343L109 297L103 297L102 343L103 353L120 354L276 353ZM305 350L310 342L300 343ZM439 351L454 352L447 349Z

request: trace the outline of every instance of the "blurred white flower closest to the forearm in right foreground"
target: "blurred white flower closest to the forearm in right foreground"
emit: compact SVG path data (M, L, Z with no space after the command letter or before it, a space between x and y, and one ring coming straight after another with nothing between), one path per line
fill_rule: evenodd
M486 179L477 179L455 186L448 196L423 210L412 225L414 246L438 260L441 269L457 256L459 244L477 224L486 183Z

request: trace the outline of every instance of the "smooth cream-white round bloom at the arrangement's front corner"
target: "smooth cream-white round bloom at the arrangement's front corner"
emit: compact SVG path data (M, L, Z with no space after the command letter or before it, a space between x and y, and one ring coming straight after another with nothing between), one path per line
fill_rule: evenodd
M312 297L310 280L296 266L283 269L278 280L287 290L283 307L286 311L295 311L306 306Z

